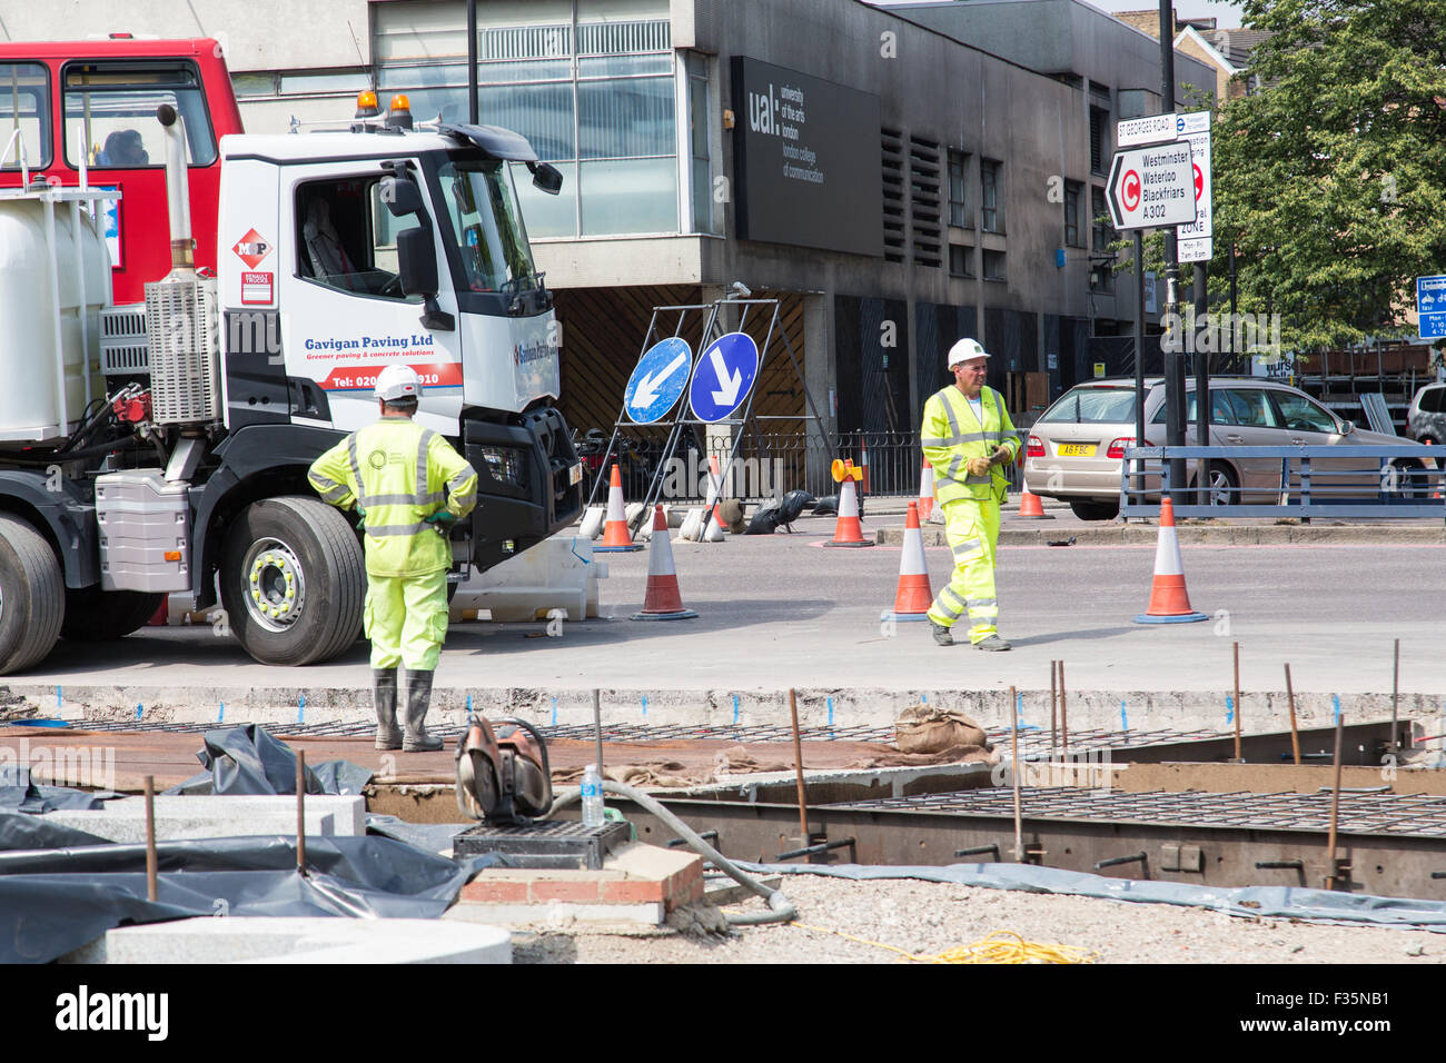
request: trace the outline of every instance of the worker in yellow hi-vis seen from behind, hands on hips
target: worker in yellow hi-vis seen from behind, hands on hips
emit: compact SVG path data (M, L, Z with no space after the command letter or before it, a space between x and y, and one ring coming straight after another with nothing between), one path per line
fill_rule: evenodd
M366 531L366 636L372 639L376 748L425 752L422 726L447 638L451 526L477 505L477 473L437 432L412 421L422 382L409 366L376 377L382 417L312 463L307 479L331 505L353 502ZM402 670L405 738L396 726Z

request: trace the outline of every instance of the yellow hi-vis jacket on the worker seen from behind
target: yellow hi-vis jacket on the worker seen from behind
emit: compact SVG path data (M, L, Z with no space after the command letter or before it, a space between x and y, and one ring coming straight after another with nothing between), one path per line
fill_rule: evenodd
M311 464L307 479L331 505L346 509L354 500L366 512L370 576L451 567L445 531L424 519L442 509L460 519L477 505L476 470L408 417L383 417L351 432Z

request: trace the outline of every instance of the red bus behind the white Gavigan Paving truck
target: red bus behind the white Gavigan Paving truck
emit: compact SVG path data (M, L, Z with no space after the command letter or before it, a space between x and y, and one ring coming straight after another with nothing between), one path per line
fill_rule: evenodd
M106 234L117 304L142 302L145 283L171 270L165 149L156 107L185 121L195 265L215 269L220 139L241 132L215 40L0 43L0 188L22 181L119 188Z

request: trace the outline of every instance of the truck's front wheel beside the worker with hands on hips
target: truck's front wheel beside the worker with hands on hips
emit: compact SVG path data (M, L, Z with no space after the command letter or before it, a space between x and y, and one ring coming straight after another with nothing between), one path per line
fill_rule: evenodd
M356 642L366 558L351 524L317 499L253 502L226 537L221 605L262 664L327 661Z

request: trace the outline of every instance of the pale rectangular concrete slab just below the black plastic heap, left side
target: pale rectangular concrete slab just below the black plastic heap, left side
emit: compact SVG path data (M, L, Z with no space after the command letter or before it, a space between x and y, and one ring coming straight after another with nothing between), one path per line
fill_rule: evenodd
M296 833L295 797L156 797L156 840L240 837ZM74 830L120 843L146 840L146 801L126 797L104 808L61 808L45 816ZM308 795L307 833L356 837L366 834L366 798Z

